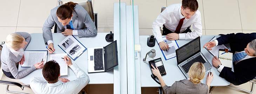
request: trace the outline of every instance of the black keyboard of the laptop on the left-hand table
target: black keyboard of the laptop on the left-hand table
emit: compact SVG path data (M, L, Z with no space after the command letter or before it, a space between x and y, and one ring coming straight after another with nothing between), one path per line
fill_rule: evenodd
M102 48L94 49L94 70L104 70Z

